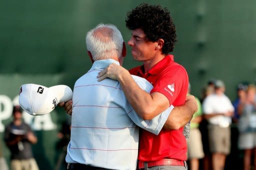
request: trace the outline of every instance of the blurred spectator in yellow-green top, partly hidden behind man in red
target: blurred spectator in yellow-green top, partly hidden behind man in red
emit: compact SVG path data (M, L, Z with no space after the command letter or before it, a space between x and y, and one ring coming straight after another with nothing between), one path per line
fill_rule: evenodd
M188 85L187 93L190 95L190 83ZM189 170L199 170L199 159L202 159L203 149L202 149L202 140L201 133L198 129L199 123L202 120L202 111L200 101L195 98L197 101L198 109L194 113L193 118L190 121L190 135L187 139L187 159L189 160Z

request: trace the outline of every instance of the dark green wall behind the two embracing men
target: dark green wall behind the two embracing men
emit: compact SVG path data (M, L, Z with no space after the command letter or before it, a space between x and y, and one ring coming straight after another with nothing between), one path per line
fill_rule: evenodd
M178 39L173 54L188 72L192 94L200 96L207 80L216 78L225 82L226 94L233 100L238 82L255 81L255 0L144 1L170 10ZM112 23L127 41L130 32L124 18L126 12L140 2L142 0L1 0L0 95L12 101L20 85L25 83L65 84L72 88L91 65L86 55L86 32L100 22ZM132 60L129 47L127 50L124 67L129 69L141 64ZM0 103L3 125L10 122L8 107ZM49 116L54 128L35 130L39 142L33 147L34 155L41 170L54 168L58 156L56 133L61 122L67 119L62 109ZM34 118L31 119L32 126ZM8 159L8 150L4 145L2 148Z

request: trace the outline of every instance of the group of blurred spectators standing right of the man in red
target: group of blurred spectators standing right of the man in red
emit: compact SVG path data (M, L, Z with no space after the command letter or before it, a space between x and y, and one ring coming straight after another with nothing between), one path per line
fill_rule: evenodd
M239 83L234 101L224 92L221 80L202 89L187 140L189 170L256 170L255 85Z

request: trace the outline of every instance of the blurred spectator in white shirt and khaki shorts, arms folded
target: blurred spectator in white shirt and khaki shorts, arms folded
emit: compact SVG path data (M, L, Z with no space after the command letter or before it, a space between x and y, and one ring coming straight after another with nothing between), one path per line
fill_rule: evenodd
M209 150L213 170L223 170L226 156L230 153L230 124L234 108L224 94L221 80L215 81L215 91L203 101L203 113L208 120Z

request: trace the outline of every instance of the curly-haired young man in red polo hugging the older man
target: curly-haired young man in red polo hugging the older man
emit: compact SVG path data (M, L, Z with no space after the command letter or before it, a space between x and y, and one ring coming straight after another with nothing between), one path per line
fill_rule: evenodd
M143 61L143 65L128 72L111 64L99 73L98 80L107 77L118 80L132 108L143 119L150 120L170 105L184 104L188 76L186 70L174 62L173 56L168 55L174 48L176 30L166 8L140 4L127 14L125 21L131 30L128 45L132 48L133 59ZM141 90L130 74L148 80L154 86L150 94ZM179 116L176 117L178 120ZM172 124L173 130L163 129L158 136L141 130L138 169L186 170L186 141L181 126L187 121L177 121Z

